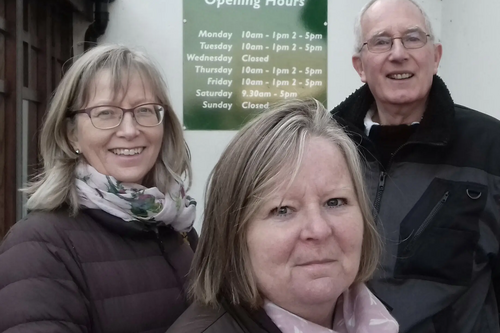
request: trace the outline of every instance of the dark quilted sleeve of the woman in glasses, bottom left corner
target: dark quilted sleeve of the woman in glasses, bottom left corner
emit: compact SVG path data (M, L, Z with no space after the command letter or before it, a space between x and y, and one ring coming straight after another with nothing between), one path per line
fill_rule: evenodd
M77 272L50 214L16 223L0 245L0 332L89 332Z

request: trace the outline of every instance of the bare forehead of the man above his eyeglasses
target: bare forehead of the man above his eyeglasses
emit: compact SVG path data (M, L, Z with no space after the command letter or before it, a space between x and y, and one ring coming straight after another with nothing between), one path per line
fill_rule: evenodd
M400 36L420 29L426 31L425 18L410 1L381 0L375 2L361 19L363 37Z

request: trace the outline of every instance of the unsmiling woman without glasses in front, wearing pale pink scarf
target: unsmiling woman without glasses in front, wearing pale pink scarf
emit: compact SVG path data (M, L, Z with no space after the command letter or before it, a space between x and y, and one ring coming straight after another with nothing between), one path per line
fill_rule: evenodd
M396 333L356 147L315 101L264 112L212 172L194 303L168 333Z

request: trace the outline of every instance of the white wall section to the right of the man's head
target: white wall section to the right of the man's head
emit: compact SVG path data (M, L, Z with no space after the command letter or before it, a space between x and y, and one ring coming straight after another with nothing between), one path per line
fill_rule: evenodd
M443 0L441 76L455 103L500 119L499 0Z

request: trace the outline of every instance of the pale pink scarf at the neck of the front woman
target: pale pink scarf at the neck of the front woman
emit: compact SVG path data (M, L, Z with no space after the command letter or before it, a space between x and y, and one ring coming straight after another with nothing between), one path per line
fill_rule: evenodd
M283 333L397 333L399 325L364 283L337 300L333 329L303 319L267 301L264 310Z

